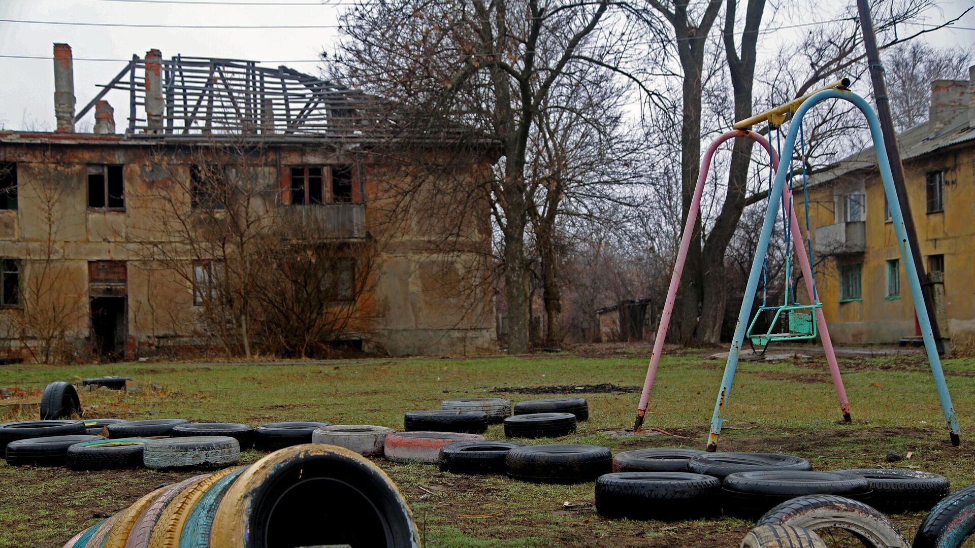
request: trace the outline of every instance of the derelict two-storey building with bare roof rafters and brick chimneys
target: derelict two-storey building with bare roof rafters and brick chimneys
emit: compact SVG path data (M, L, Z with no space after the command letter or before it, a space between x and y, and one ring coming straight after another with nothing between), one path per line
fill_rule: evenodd
M54 64L57 130L0 131L0 359L495 348L487 200L413 183L446 154L477 195L489 154L377 138L369 96L286 66L151 50L76 109Z

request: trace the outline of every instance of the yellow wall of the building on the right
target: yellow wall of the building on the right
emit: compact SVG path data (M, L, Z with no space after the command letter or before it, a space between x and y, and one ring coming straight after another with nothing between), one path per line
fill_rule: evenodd
M925 268L927 255L945 255L948 331L953 337L975 335L975 145L930 154L904 164ZM943 213L927 214L926 175L939 170L946 170L945 209ZM816 283L835 340L894 342L915 334L915 313L893 223L883 218L883 185L879 176L844 176L842 180L810 189L810 226L815 233L817 226L833 224L835 187L847 187L859 181L865 184L867 193L867 252L826 259L817 268ZM797 201L797 213L801 218L801 201ZM899 299L886 298L886 261L892 258L900 258ZM840 303L838 266L854 262L863 262L863 298Z

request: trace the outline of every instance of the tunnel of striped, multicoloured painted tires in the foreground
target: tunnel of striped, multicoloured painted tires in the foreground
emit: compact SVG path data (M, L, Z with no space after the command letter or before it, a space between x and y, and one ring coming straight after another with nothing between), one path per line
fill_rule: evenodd
M156 489L64 548L324 545L414 547L419 534L382 470L353 450L304 444Z

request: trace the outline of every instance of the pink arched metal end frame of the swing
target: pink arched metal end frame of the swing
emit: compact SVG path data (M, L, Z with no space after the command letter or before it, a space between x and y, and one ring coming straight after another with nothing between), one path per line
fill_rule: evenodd
M751 138L752 140L761 144L762 148L768 152L768 155L771 158L772 169L775 171L778 171L779 169L778 154L768 143L768 140L749 130L732 130L727 132L721 137L716 138L704 151L704 156L701 160L701 171L697 176L697 184L694 187L694 195L690 202L690 210L687 212L687 220L683 227L681 247L678 250L677 262L674 265L674 272L671 275L670 288L667 290L667 300L664 302L664 310L660 316L660 325L657 327L657 335L653 340L653 353L650 355L650 364L646 370L646 379L643 381L643 393L640 397L640 406L637 409L637 420L633 425L633 430L635 432L640 430L640 427L643 425L643 419L646 416L646 408L649 406L650 392L653 389L653 381L657 376L657 366L660 365L660 354L664 347L664 339L667 337L667 329L670 327L671 316L674 313L674 302L677 300L678 287L681 285L683 264L687 258L687 251L690 249L690 240L694 231L694 223L697 221L697 215L701 210L701 196L704 194L704 183L707 181L708 172L711 170L711 161L714 158L718 147L724 141L735 137ZM792 191L789 189L788 185L786 185L783 189L782 200L787 204L792 204ZM807 248L805 241L802 233L800 232L799 219L796 216L796 210L794 208L790 207L788 209L793 244L799 258L802 279L805 282L805 291L809 297L809 301L816 302L817 293L815 279L812 277L812 268L809 264L809 255L806 251ZM823 341L823 351L826 354L826 362L829 365L830 374L833 376L833 386L836 388L837 399L839 399L839 411L843 415L843 420L850 422L852 420L850 417L850 404L849 400L846 398L846 389L843 387L843 379L839 373L839 365L837 364L837 354L833 349L833 340L830 338L830 331L826 326L826 317L823 314L822 307L816 308L815 314L816 324L819 328L819 336Z

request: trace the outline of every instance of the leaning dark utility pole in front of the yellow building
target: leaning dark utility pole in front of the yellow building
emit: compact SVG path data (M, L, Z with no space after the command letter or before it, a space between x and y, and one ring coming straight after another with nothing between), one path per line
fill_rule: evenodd
M897 145L897 134L894 132L894 121L890 115L890 100L887 98L887 85L883 81L883 65L880 64L880 54L877 49L877 36L874 34L874 20L870 15L870 5L867 0L857 0L857 10L860 12L860 28L863 30L863 44L867 49L867 62L870 65L870 79L874 83L874 98L877 100L877 116L880 120L880 132L883 134L883 146L890 159L890 171L897 189L897 201L904 214L904 228L908 233L908 243L911 245L912 259L917 269L921 294L924 296L924 308L931 321L931 332L938 354L948 352L945 339L941 337L938 327L938 315L934 308L934 287L927 279L924 262L920 256L920 246L917 245L917 229L914 215L911 215L911 204L908 202L908 191L904 186L904 165L901 163L901 150Z

